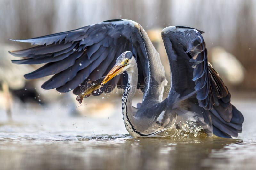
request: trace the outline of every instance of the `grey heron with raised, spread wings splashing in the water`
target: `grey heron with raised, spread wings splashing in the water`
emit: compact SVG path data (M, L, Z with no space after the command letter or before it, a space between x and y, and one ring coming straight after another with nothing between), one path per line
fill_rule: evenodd
M80 87L104 75L104 89L124 89L122 114L133 137L155 137L170 128L195 127L209 136L237 137L243 115L230 103L230 93L217 71L207 61L203 31L184 26L161 32L171 69L171 87L162 100L167 84L164 67L147 33L131 20L108 20L76 30L42 37L14 40L35 47L10 51L16 64L41 64L25 74L26 79L53 75L43 89L78 95ZM124 74L121 74L124 73ZM142 103L131 104L135 90L143 90Z

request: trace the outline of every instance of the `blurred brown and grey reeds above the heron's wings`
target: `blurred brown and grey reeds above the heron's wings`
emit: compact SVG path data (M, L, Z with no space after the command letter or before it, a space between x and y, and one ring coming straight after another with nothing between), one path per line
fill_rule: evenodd
M171 25L194 27L205 31L208 49L222 46L245 67L244 82L233 88L256 89L253 0L2 0L0 8L0 42L10 44L9 38L27 39L114 18L134 20L145 30Z

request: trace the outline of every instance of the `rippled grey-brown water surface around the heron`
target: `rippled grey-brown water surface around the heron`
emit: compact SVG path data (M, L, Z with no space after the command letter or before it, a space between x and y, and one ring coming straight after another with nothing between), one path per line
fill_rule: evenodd
M255 169L256 101L233 103L245 118L236 139L132 138L118 100L113 114L97 118L70 116L71 106L61 102L17 107L11 123L1 110L0 169Z

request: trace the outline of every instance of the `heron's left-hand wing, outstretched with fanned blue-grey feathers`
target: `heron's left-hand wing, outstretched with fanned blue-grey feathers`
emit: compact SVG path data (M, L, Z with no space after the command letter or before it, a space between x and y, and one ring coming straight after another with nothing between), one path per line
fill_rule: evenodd
M37 46L10 51L14 56L27 57L22 60L12 60L12 62L16 64L46 63L34 72L26 74L25 78L35 79L53 75L42 85L42 88L56 88L59 92L74 89L73 93L79 94L81 85L107 74L121 53L132 51L133 43L138 67L143 68L139 70L138 83L144 84L144 77L148 76L148 69L144 67L144 63L147 63L147 54L139 27L140 25L133 21L113 20L67 32L14 40ZM111 91L116 84L124 88L127 80L126 74L117 76L105 85L111 85L105 91Z

